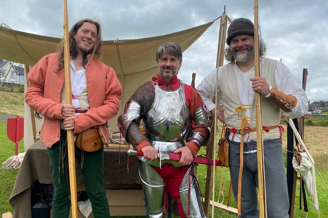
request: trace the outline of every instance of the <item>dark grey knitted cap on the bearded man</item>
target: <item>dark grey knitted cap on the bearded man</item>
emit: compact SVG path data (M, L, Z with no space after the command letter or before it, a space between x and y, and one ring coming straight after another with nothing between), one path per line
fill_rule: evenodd
M227 45L230 45L231 39L238 35L254 36L254 24L251 20L237 18L231 22L227 32Z

